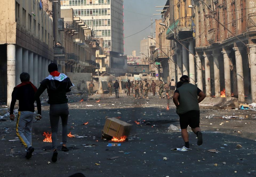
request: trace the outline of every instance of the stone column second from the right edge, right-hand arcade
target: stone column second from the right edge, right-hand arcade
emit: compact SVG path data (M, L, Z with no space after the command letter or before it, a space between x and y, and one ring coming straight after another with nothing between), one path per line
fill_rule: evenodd
M245 101L245 89L243 83L243 62L242 62L242 47L234 47L235 51L235 66L237 69L237 91L238 101Z

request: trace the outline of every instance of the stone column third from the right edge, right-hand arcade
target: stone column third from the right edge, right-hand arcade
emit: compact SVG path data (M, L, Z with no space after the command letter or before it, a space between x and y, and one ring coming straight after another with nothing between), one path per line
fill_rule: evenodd
M231 97L231 82L230 82L230 62L229 54L231 51L221 51L224 58L224 77L225 77L225 93L226 97Z

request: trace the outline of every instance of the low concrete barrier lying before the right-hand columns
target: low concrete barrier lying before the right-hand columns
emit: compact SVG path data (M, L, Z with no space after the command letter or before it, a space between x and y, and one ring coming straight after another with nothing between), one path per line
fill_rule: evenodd
M238 99L231 97L206 97L201 103L199 103L201 109L235 109L239 108Z

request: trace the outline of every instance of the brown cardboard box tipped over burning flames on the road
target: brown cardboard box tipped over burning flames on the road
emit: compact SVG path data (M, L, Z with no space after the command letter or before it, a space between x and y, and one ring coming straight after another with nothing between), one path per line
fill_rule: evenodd
M109 136L121 138L121 136L128 136L130 133L131 124L123 122L116 118L107 118L103 133Z

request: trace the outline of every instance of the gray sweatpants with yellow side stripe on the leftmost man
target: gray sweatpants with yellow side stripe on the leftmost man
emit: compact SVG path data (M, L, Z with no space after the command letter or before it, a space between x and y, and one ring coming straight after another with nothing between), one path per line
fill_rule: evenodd
M32 146L32 122L34 113L31 111L19 111L16 123L16 134L25 145L26 149Z

